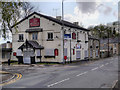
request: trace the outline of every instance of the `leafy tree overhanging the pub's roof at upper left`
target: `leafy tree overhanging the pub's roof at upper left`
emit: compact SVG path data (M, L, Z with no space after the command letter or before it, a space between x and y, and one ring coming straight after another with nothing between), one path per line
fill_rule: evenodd
M16 0L17 1L17 0ZM6 38L6 31L10 30L12 32L11 26L16 24L24 12L25 16L29 15L29 12L33 9L28 2L2 2L0 1L0 11L1 11L1 31L3 32L3 37ZM23 16L23 17L25 17ZM17 30L17 28L15 27Z

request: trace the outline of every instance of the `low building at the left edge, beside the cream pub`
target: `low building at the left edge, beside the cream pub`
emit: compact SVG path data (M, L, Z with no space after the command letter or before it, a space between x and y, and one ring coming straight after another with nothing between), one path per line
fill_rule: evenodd
M7 41L7 43L3 43L0 45L1 49L1 56L2 56L2 61L1 62L6 62L11 56L12 53L12 43Z

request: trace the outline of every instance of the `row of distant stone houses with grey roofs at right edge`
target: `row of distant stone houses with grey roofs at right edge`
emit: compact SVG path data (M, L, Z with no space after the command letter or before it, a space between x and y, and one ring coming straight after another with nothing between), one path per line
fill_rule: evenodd
M109 45L108 45L109 44ZM120 55L120 38L107 38L100 40L100 52L102 57ZM109 51L108 51L109 50Z

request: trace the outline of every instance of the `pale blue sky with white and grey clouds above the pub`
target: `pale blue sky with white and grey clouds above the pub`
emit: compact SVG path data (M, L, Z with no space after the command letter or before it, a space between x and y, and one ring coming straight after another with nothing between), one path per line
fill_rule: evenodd
M62 0L23 0L29 1L37 12L56 17L61 16ZM91 25L106 24L118 20L119 0L64 0L64 19L79 22L85 28ZM0 43L12 41L0 38Z

